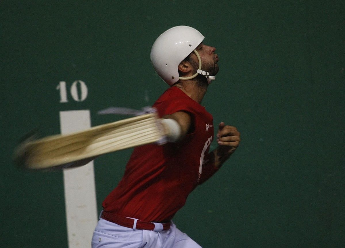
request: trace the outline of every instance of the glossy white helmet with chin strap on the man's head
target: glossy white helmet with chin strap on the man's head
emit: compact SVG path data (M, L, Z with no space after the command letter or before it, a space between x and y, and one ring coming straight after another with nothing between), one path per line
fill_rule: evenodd
M208 79L215 79L209 76L207 71L201 70L201 59L195 48L204 40L204 36L195 28L188 26L176 26L161 34L152 45L151 63L158 75L168 84L173 85L179 79L188 80L198 74ZM178 65L191 52L195 52L199 60L199 69L191 77L179 77Z

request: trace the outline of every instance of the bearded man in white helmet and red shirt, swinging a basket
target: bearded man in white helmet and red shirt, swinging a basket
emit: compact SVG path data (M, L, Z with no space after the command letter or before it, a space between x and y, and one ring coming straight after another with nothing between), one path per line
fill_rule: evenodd
M168 143L134 149L124 177L103 201L92 247L200 247L171 221L188 194L210 178L235 151L240 134L223 122L218 148L213 117L200 105L219 68L215 48L202 43L194 28L173 27L151 49L151 62L171 87L153 107L167 132Z

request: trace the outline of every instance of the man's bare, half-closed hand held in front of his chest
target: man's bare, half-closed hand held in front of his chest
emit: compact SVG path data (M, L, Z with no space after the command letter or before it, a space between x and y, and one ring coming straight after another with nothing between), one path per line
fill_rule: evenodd
M219 144L217 155L228 157L234 153L240 142L240 133L234 126L226 126L224 122L219 124L217 133L217 142Z

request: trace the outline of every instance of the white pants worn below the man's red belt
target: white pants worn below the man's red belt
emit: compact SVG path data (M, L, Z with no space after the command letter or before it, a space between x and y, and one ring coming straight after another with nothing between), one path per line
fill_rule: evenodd
M171 222L170 230L133 230L100 219L93 232L92 248L201 248Z

